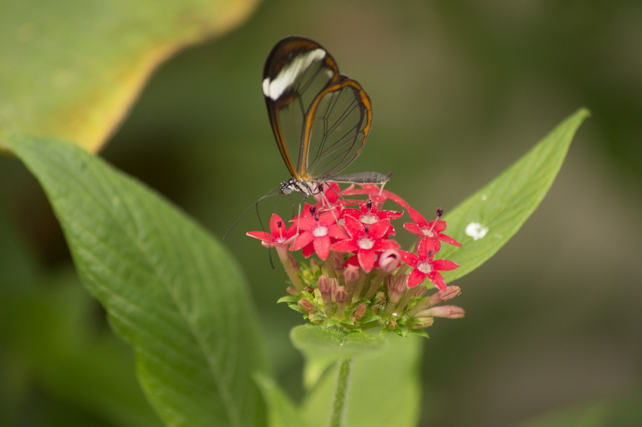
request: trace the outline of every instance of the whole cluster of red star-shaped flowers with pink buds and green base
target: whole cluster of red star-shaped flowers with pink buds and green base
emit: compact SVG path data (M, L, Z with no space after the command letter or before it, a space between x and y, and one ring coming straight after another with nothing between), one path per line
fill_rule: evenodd
M383 333L404 336L427 335L422 328L430 326L435 317L464 315L461 308L437 306L460 293L458 286L446 286L439 273L458 265L435 259L442 243L460 246L444 234L441 209L428 222L402 198L378 186L342 190L329 183L318 188L316 203L306 203L289 226L273 214L270 232L247 233L263 246L275 248L290 277L290 295L279 302L288 302L320 326L380 327ZM419 236L414 250L402 250L392 239L392 220L401 218L404 211L383 209L386 200L408 212L412 222L404 223L403 228ZM316 257L299 264L292 256L299 250L306 258ZM437 292L426 295L433 286Z

